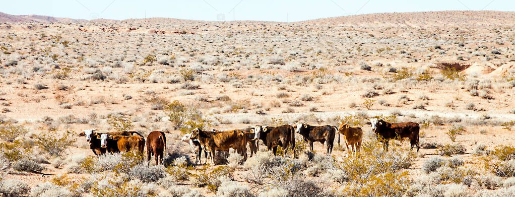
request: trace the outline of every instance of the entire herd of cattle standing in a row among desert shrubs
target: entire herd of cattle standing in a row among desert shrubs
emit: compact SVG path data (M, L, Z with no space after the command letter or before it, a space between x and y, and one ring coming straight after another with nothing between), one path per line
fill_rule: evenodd
M419 124L416 122L390 123L383 119L372 118L367 124L371 125L372 131L383 143L385 150L388 150L390 139L402 140L409 138L410 147L417 147L419 151ZM359 127L350 127L347 122L342 122L337 128L335 126L311 126L306 123L295 123L294 126L285 124L279 127L255 126L245 129L235 129L227 131L203 131L195 128L191 133L182 137L182 141L188 142L195 150L195 163L201 163L201 153L204 152L205 162L210 158L210 164L215 164L216 151L229 151L230 148L236 150L244 159L247 159L247 144L250 149L250 156L259 150L259 140L277 154L278 146L282 147L284 155L291 150L291 157L296 158L295 154L295 134L302 135L304 141L310 145L313 152L313 142L318 141L322 145L327 142L326 154L331 154L334 139L338 134L338 144L340 144L340 134L344 136L349 152L355 155L359 152L363 139L363 130ZM143 135L135 131L119 131L109 133L99 133L95 130L84 130L79 134L85 136L90 148L95 155L102 155L106 152L132 152L143 154L145 142L147 147L147 163L150 164L151 156L155 157L156 165L162 164L163 155L166 147L166 136L161 131L151 132L146 140ZM350 146L350 149L349 149ZM205 163L204 162L204 163Z

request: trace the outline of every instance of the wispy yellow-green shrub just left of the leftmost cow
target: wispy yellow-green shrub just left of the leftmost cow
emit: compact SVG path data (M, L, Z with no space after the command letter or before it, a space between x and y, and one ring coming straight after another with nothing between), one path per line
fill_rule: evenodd
M39 148L52 156L61 156L75 142L75 139L67 134L64 134L62 137L56 137L54 134L43 134L39 135L37 139Z

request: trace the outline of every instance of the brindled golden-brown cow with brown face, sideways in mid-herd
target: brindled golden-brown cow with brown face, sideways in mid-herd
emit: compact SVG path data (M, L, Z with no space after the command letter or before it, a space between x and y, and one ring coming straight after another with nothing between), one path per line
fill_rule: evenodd
M230 148L236 150L243 158L247 159L247 136L241 130L206 132L199 128L192 131L191 139L198 139L202 147L211 153L211 165L215 164L215 151L229 151Z

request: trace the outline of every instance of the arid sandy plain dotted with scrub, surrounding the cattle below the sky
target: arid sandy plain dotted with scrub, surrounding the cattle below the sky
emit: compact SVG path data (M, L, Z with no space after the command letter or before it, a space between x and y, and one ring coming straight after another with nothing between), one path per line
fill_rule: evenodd
M515 196L515 12L297 23L0 16L6 196ZM420 152L398 140L384 152L372 117L418 122ZM346 157L341 139L331 156L318 142L306 153L297 135L299 158L261 145L245 162L231 152L210 166L180 140L194 127L297 121L361 126L362 152ZM164 131L165 165L97 157L85 129Z

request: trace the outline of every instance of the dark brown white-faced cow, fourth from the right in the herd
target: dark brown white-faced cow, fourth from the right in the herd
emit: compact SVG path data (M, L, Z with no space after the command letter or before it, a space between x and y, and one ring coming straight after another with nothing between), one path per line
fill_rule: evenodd
M273 151L273 155L277 155L277 146L281 146L285 155L288 149L291 149L292 158L295 158L295 130L289 124L276 128L256 126L254 132L256 132L255 138L261 139L268 150Z

